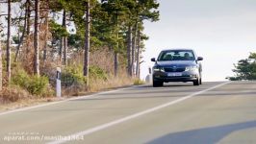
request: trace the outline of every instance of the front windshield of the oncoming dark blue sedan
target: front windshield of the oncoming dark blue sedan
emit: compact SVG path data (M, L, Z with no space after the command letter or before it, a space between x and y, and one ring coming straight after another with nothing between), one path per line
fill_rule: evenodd
M192 50L169 50L162 51L158 57L159 61L164 60L195 60Z

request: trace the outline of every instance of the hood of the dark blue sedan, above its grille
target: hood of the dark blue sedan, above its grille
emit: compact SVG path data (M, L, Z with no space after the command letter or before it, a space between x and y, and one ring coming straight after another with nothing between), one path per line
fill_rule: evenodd
M196 66L195 60L169 60L169 61L157 61L155 66L176 66L176 67L186 67L186 66Z

